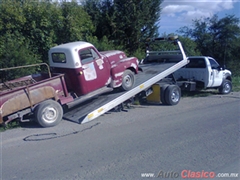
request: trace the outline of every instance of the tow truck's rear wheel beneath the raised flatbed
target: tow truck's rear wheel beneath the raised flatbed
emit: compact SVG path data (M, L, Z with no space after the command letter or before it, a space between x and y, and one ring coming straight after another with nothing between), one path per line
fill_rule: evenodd
M181 99L181 89L177 85L169 85L165 91L167 105L176 105Z

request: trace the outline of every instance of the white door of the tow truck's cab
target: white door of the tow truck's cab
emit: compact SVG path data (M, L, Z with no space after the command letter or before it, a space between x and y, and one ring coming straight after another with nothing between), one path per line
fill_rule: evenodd
M209 78L209 86L208 87L218 87L222 83L222 71L220 69L219 64L212 58L208 58L211 70L210 70L210 78Z

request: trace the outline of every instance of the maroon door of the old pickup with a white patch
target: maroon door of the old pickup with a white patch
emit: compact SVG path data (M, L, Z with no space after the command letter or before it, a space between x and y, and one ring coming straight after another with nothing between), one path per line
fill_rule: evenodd
M92 47L79 50L82 64L80 71L80 84L82 94L87 94L107 85L110 78L110 65Z

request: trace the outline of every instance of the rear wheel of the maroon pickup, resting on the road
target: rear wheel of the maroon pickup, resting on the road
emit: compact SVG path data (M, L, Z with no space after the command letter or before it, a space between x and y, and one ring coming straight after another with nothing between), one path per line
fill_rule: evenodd
M62 106L54 100L43 101L35 109L36 120L42 127L56 126L61 122L62 116Z

